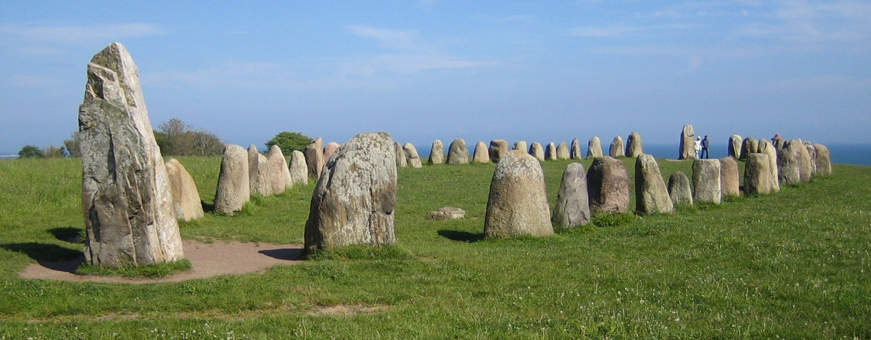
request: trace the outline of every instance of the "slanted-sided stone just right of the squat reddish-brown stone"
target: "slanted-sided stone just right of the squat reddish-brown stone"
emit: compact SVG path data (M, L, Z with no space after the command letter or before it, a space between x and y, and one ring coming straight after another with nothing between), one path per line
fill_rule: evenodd
M635 211L639 214L666 214L674 211L672 197L665 187L656 159L641 153L635 160Z

